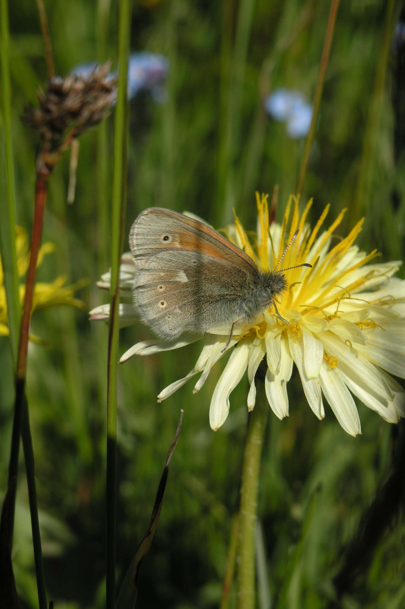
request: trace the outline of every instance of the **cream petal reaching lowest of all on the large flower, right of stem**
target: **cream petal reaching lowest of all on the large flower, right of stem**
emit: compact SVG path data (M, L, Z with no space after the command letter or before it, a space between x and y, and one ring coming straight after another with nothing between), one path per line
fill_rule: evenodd
M338 368L330 368L327 362L319 370L322 392L344 431L356 436L361 434L360 419L355 401L347 389Z

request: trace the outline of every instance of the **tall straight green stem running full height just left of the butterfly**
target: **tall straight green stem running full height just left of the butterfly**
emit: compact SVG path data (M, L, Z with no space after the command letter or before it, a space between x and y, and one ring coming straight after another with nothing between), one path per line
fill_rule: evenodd
M128 61L132 2L118 3L118 93L114 121L114 170L111 214L111 288L107 363L107 474L106 474L106 607L115 607L115 529L117 504L117 362L120 258L123 244L127 149L128 149Z

